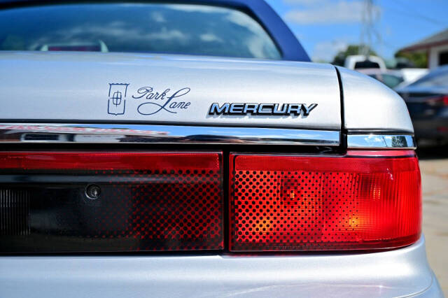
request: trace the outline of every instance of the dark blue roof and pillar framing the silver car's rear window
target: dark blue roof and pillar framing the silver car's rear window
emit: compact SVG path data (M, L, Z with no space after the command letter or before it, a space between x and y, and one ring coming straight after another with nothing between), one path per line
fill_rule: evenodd
M262 27L267 31L269 36L274 40L279 48L282 58L284 60L310 62L307 52L297 40L289 27L281 20L281 17L275 13L275 11L264 0L148 0L148 1L104 1L97 0L94 3L113 3L113 2L132 2L132 3L188 3L188 4L202 4L202 5L214 5L224 6L228 8L234 8L248 15L251 15L257 20ZM62 3L92 3L92 1L86 0L0 0L1 8L13 8L20 6L38 6L38 5L51 5Z

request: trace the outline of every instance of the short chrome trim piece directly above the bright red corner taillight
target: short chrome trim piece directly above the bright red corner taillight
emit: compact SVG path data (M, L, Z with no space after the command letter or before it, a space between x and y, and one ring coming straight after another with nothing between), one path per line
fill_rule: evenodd
M351 149L415 149L413 136L390 134L349 134L347 148Z

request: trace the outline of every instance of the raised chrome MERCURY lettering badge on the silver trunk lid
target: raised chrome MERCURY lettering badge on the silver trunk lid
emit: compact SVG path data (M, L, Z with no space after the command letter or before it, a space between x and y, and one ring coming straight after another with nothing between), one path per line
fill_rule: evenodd
M209 115L304 115L316 108L317 104L211 104Z

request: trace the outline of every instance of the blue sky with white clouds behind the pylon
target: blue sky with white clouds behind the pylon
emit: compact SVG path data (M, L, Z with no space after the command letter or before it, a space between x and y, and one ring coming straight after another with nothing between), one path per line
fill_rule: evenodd
M367 40L365 0L265 0L314 61L332 61L349 44ZM385 59L448 28L448 0L372 0L372 48ZM362 37L363 36L363 37Z

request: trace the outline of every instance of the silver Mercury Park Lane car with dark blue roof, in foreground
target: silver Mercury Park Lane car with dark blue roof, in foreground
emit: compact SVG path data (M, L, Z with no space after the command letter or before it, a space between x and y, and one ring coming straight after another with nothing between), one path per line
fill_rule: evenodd
M0 297L443 296L405 102L264 1L0 8Z

